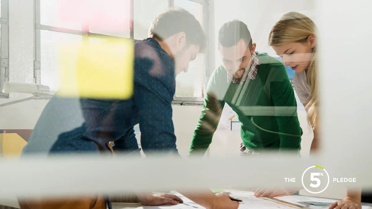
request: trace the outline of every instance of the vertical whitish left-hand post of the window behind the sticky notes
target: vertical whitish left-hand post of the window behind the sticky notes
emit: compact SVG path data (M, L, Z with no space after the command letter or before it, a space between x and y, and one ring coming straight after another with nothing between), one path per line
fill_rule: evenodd
M33 79L35 83L41 83L41 31L37 27L40 25L40 0L34 0L34 60L33 60Z

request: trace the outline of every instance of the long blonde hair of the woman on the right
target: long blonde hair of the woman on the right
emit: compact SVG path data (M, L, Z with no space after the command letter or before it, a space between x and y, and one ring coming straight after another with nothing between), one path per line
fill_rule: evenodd
M309 36L315 36L315 24L310 18L298 12L289 12L273 26L269 35L269 45L278 46L291 42L306 42ZM318 124L318 83L316 47L313 48L310 64L305 70L310 87L310 102L307 109L307 120L314 130Z

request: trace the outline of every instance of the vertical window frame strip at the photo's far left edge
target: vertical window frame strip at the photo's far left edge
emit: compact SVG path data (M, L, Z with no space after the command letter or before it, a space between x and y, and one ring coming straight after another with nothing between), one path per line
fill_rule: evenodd
M9 98L3 91L9 81L9 0L1 0L1 57L0 57L0 98Z

